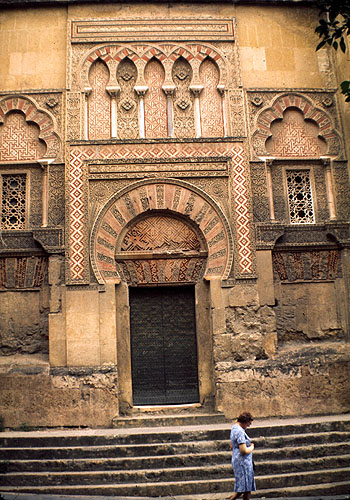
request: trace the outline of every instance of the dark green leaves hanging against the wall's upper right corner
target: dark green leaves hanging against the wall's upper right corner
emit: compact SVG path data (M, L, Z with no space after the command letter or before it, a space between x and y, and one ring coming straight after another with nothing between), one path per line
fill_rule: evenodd
M321 38L316 50L326 44L333 49L345 54L346 37L350 36L350 0L318 0L320 8L319 24L315 32ZM350 81L345 80L340 84L345 101L350 102Z

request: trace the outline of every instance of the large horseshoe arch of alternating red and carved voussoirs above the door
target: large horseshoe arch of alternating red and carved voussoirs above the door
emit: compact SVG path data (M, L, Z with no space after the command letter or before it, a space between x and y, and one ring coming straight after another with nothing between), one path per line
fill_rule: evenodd
M90 240L92 269L99 283L117 282L115 252L123 229L136 217L167 211L189 218L208 247L205 274L226 279L233 262L232 234L221 209L203 191L184 181L158 179L134 183L102 208Z

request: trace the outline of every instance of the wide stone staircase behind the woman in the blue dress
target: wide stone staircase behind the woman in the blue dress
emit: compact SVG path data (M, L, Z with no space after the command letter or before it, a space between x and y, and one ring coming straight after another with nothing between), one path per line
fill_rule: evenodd
M231 425L174 418L173 426L168 417L137 417L118 419L118 429L0 433L0 492L227 498ZM350 494L350 415L255 421L248 433L255 496Z

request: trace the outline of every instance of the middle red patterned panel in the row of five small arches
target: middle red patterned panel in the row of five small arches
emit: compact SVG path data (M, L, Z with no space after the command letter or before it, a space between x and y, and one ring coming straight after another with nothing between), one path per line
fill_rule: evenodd
M148 86L145 96L145 130L149 139L168 135L166 96L162 90L164 77L163 66L156 59L152 59L145 69Z

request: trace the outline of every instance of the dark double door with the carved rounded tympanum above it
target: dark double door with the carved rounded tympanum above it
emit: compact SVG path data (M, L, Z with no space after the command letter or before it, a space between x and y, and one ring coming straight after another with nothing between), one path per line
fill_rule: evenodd
M183 216L150 211L131 221L116 247L129 284L133 405L199 402L195 283L207 248Z

